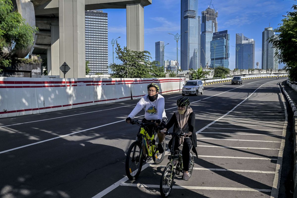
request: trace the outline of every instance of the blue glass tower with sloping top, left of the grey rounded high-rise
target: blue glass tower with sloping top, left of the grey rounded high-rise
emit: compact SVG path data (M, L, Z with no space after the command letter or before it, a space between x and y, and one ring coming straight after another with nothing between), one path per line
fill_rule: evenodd
M242 33L236 34L235 49L236 69L255 69L255 41L245 37Z

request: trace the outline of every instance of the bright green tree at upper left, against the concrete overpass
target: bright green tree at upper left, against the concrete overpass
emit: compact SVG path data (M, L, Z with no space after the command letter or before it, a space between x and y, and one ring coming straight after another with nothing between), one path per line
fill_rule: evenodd
M33 44L33 33L38 28L25 22L20 13L12 12L11 0L0 0L0 67L11 64L12 54L16 50L26 49ZM3 69L0 68L0 72Z

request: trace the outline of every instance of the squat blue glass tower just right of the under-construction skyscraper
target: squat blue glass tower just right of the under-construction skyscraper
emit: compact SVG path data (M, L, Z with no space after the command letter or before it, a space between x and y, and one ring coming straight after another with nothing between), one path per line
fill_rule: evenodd
M228 30L213 33L212 41L210 42L211 68L218 66L229 68L229 40L230 34L228 34Z

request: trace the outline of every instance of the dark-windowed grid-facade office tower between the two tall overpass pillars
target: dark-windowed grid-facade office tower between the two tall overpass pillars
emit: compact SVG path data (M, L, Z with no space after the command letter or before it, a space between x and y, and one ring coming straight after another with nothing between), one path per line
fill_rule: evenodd
M108 74L107 13L102 10L85 12L86 61L89 75Z

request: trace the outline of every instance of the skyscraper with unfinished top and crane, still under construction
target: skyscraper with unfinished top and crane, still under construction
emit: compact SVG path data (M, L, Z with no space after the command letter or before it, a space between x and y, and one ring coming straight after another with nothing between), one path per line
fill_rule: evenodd
M205 67L210 64L210 42L214 32L218 30L217 17L218 12L214 9L207 8L201 12L201 66Z

